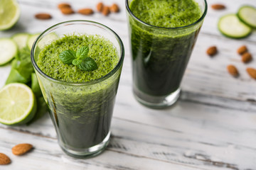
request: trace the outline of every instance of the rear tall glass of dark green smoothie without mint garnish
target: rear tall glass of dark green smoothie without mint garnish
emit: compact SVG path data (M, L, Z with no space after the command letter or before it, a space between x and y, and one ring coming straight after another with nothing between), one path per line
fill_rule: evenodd
M173 105L206 16L206 0L126 0L133 92L151 108Z

